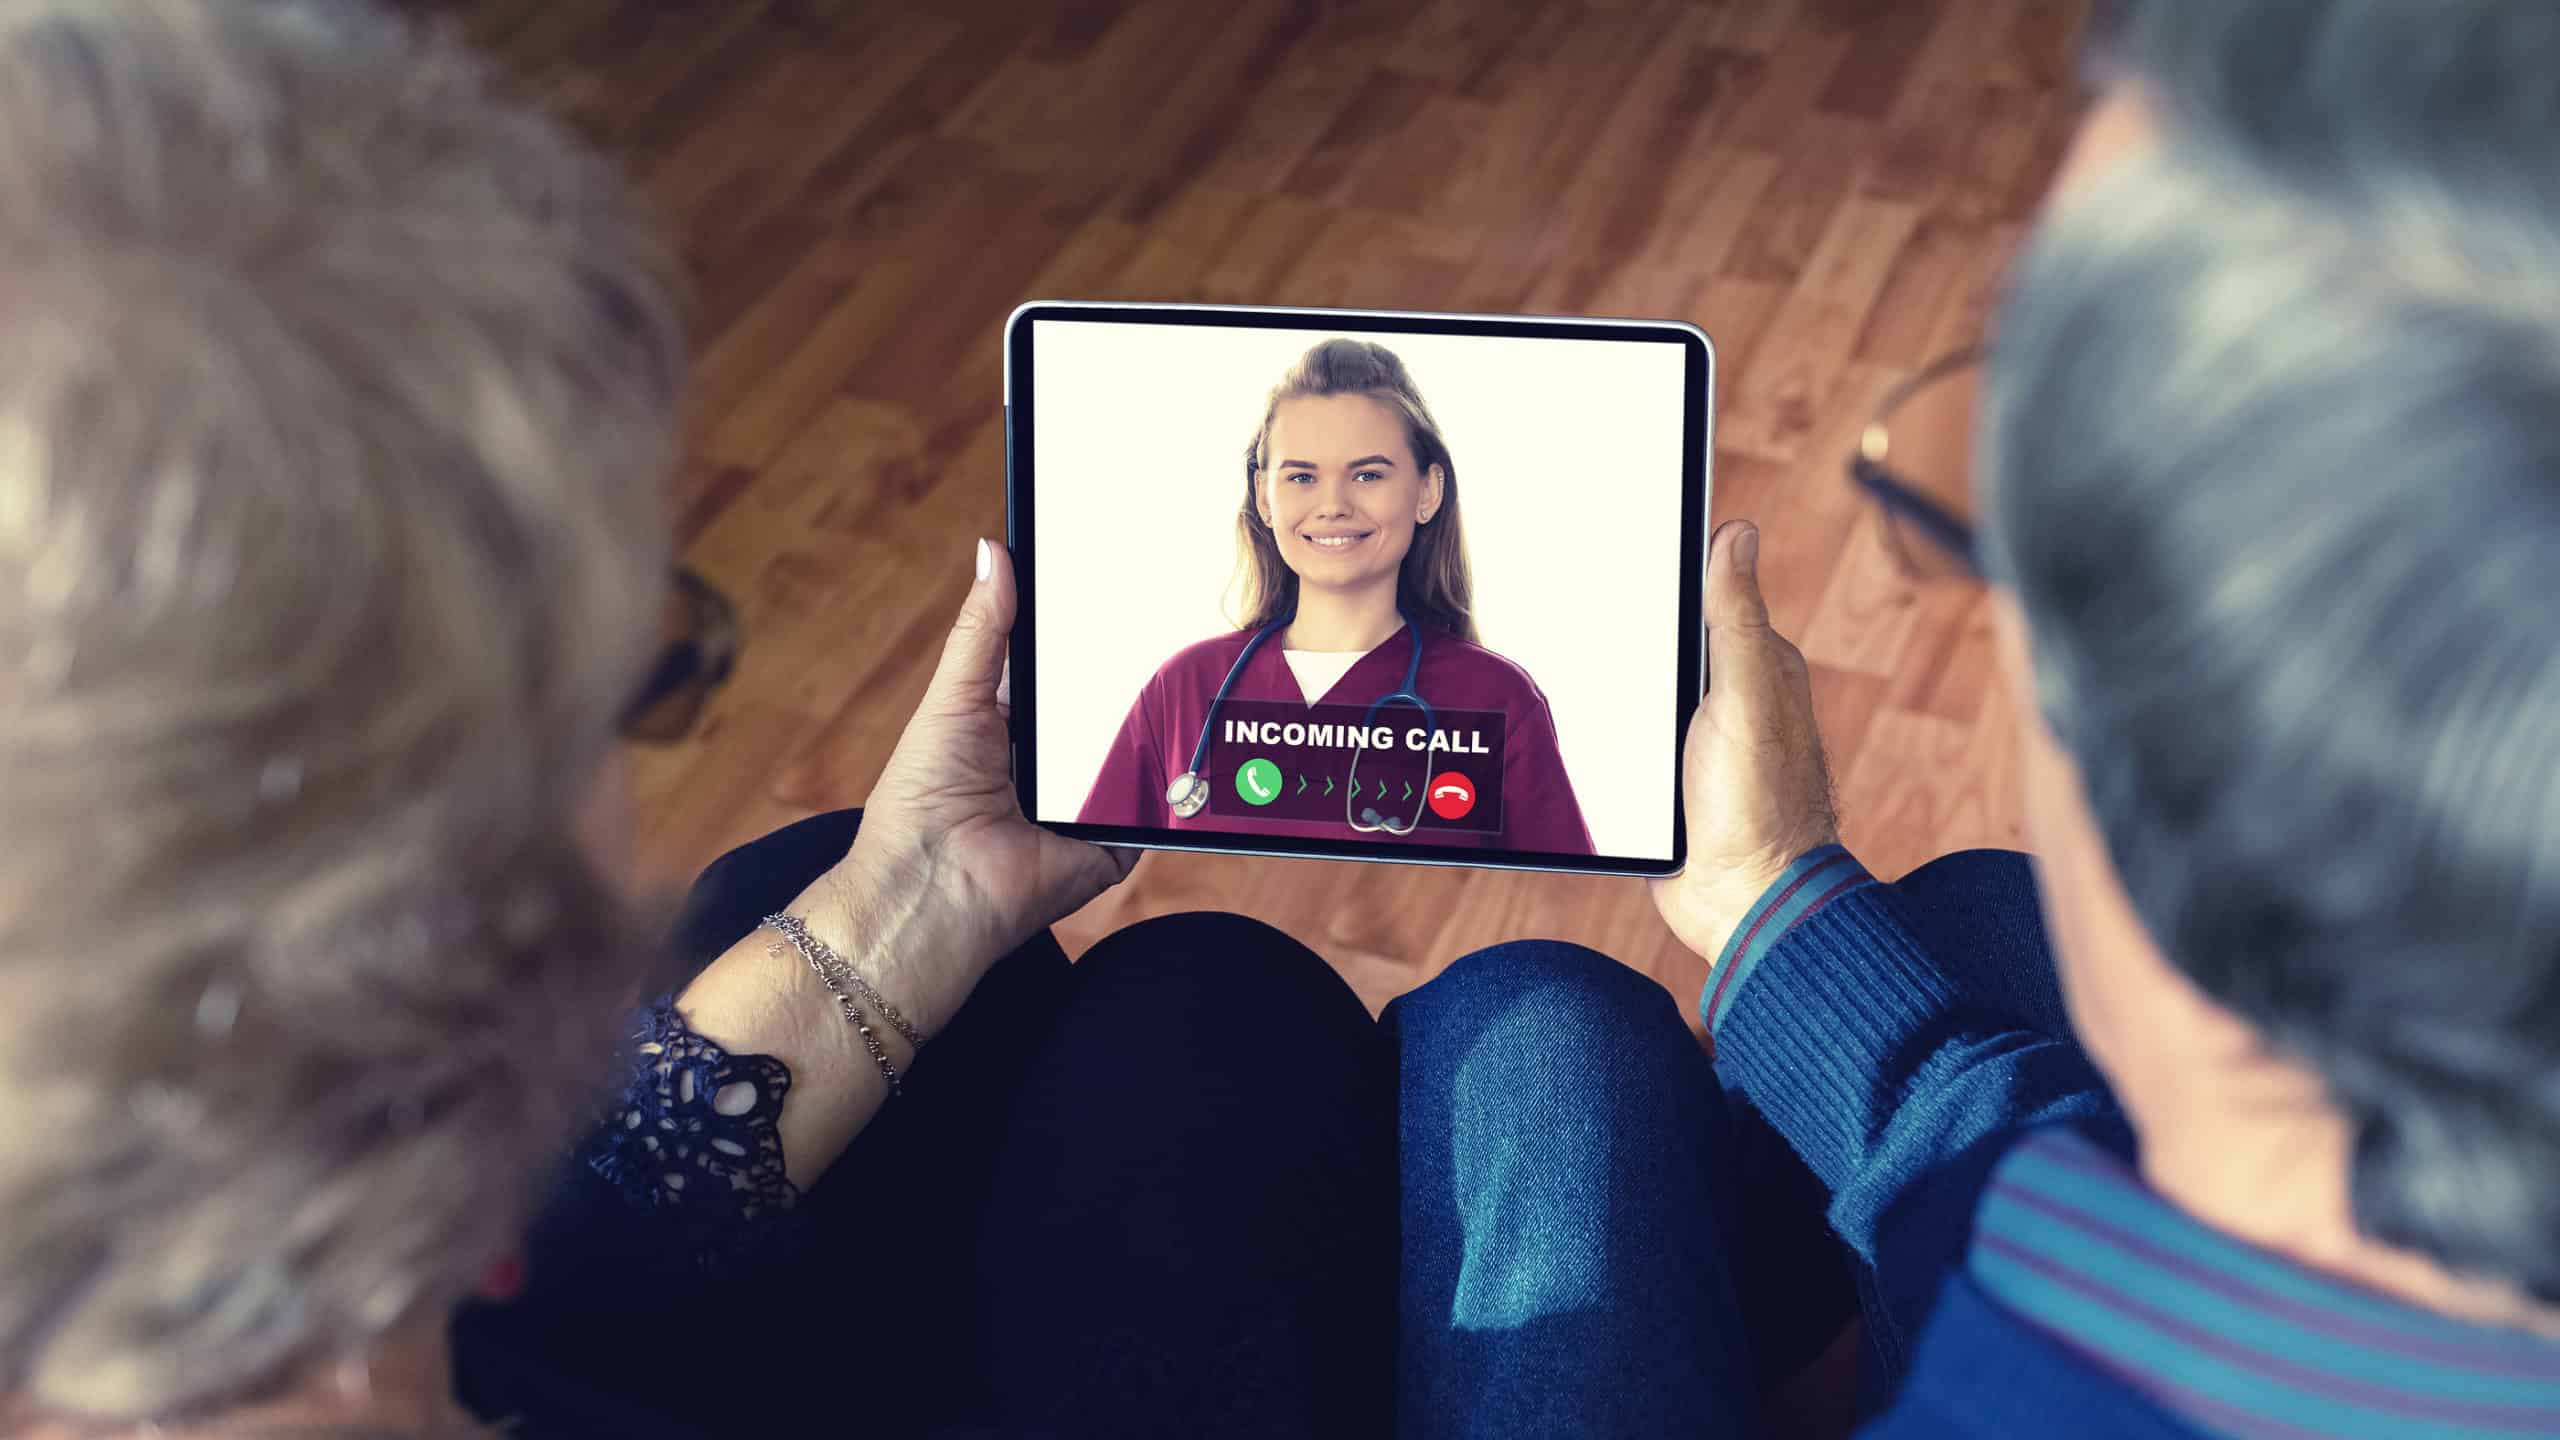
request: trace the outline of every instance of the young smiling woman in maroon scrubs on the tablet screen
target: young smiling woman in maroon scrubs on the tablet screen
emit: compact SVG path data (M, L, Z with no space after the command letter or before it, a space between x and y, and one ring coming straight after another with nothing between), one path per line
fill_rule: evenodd
M1326 341L1272 389L1262 428L1244 451L1236 548L1242 628L1178 651L1139 689L1078 820L1595 853L1556 753L1546 694L1528 671L1477 643L1457 464L1395 351L1370 341ZM1423 697L1434 715L1503 715L1500 828L1439 822L1434 810L1405 797L1382 805L1347 797L1344 815L1326 820L1206 805L1208 787L1239 781L1198 761L1211 702L1229 679L1226 707L1370 710L1380 697L1405 692L1408 671L1411 694ZM1421 723L1421 710L1398 700L1375 720L1403 735ZM1380 776L1393 774L1395 758L1380 753L1362 764ZM1434 758L1423 769L1439 774L1449 766Z

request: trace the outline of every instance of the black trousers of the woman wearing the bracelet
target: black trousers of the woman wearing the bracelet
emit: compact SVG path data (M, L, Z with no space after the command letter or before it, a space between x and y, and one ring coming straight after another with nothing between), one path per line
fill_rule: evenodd
M696 881L709 963L860 812ZM776 1435L1375 1435L1393 1412L1395 1068L1359 997L1234 915L1006 956L809 1189ZM801 1402L799 1396L806 1396Z

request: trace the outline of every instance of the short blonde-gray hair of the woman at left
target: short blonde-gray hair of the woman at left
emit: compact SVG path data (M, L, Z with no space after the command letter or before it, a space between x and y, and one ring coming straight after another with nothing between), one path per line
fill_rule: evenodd
M0 1391L220 1399L515 1243L643 984L571 817L676 284L440 31L0 10Z

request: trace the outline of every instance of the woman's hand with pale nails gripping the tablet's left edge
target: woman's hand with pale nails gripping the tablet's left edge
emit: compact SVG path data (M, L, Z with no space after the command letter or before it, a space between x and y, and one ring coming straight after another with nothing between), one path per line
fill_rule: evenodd
M888 976L881 989L924 1030L1006 951L1137 863L1137 851L1068 840L1021 815L1006 738L1014 559L993 541L978 546L978 582L870 789L852 853L812 887L814 899L832 899L832 925L812 917L812 928L842 930L827 935L837 948L863 945Z

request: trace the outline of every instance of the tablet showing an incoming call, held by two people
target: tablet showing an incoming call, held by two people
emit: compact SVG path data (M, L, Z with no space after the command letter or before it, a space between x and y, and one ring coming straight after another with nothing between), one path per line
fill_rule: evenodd
M1674 874L1713 379L1672 320L1014 310L1024 815Z

